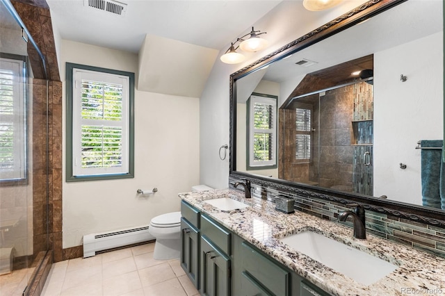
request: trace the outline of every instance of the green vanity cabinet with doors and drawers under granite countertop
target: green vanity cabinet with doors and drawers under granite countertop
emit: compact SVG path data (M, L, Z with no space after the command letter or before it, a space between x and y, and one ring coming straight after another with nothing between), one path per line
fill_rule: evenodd
M201 295L330 295L184 201L181 213L181 266Z

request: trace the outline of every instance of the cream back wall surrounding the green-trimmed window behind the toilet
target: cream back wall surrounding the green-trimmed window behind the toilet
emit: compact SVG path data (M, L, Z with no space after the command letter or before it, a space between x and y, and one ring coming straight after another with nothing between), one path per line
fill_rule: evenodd
M138 69L136 54L68 40L60 48L64 98L66 62ZM63 172L63 248L81 245L88 233L145 225L156 215L179 211L178 192L199 183L199 99L136 90L135 100L135 178L67 183ZM155 195L136 194L154 187Z

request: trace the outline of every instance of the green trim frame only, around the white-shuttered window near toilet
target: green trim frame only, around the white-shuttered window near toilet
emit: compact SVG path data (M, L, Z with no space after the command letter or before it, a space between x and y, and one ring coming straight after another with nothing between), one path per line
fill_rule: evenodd
M128 172L111 173L111 174L91 174L91 175L74 175L73 170L73 73L74 69L88 70L104 74L115 74L119 76L127 76L129 79L129 102L128 102ZM135 76L134 73L124 72L115 69L106 69L102 67L93 67L88 65L79 65L74 63L66 63L66 181L97 181L112 179L134 178L134 92L135 92Z

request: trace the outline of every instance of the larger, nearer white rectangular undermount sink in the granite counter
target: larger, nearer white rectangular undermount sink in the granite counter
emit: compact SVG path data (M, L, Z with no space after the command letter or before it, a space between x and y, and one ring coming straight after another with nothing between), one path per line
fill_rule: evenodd
M280 241L366 286L398 268L397 265L312 231L280 238Z

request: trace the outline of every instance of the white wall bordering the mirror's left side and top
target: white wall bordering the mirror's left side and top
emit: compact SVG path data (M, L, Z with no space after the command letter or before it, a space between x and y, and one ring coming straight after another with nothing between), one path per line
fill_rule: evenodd
M302 15L298 13L303 9L301 1L283 1L253 24L255 29L267 32L265 36L270 44L267 49L250 54L245 62L238 65L227 65L220 60L216 61L200 99L200 183L213 188L228 186L229 157L225 161L220 161L218 149L221 145L229 144L230 74L364 2L344 1L331 10ZM248 31L248 28L245 31ZM241 35L243 33L238 37ZM236 37L227 40L227 47L220 51L220 56L229 48L229 42L236 40Z

